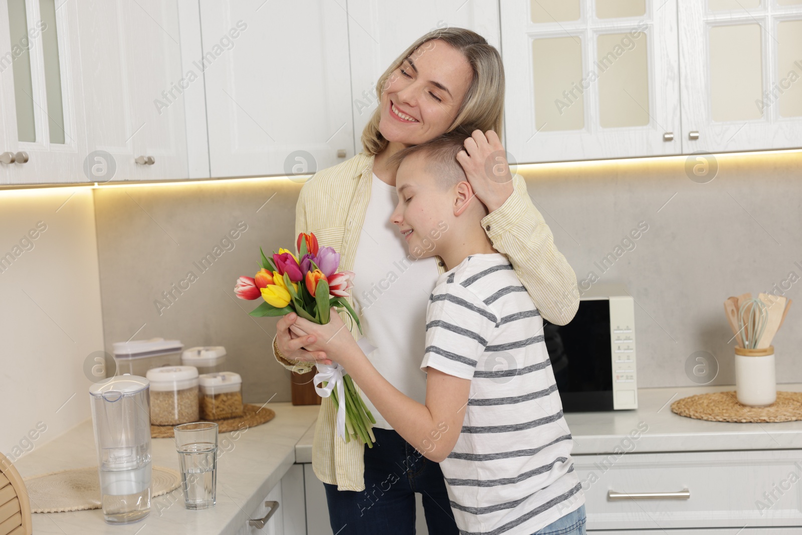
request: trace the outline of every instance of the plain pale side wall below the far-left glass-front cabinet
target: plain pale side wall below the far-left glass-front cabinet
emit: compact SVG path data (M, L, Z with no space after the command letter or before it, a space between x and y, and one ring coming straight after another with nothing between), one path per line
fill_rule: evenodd
M90 189L0 194L0 452L12 461L90 415L97 250Z

